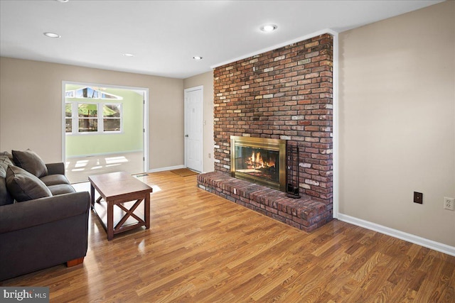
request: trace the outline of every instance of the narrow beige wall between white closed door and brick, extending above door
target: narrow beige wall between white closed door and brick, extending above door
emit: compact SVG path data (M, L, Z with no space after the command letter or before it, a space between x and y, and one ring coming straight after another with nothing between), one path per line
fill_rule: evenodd
M204 157L203 171L213 172L213 71L183 80L183 87L204 87ZM209 156L210 154L210 156Z

